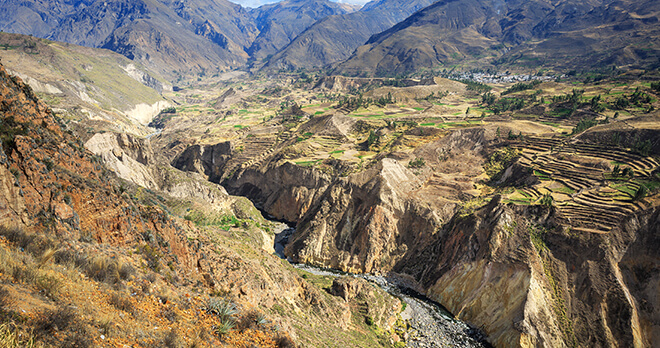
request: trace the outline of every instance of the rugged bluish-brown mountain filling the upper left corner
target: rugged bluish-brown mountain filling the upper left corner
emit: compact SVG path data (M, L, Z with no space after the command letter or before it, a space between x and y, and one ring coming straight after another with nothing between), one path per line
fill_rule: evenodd
M0 12L16 14L0 18L3 31L111 49L172 80L243 66L258 33L225 0L5 1Z

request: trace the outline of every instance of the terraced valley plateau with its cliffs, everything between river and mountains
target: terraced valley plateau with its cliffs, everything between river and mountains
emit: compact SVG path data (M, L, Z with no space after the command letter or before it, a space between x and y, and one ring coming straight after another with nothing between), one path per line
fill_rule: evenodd
M295 223L291 260L402 277L493 346L652 347L658 74L558 77L237 81L154 146Z

